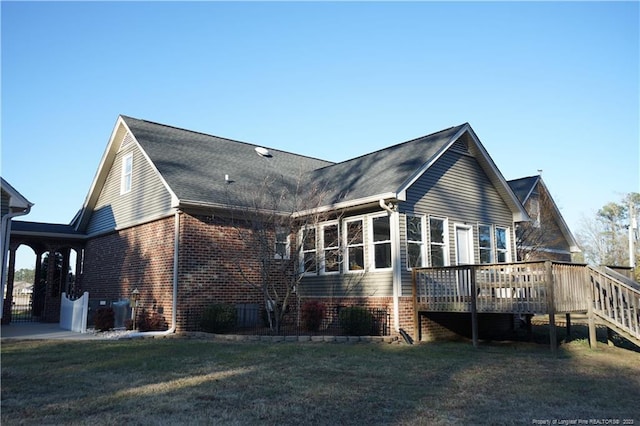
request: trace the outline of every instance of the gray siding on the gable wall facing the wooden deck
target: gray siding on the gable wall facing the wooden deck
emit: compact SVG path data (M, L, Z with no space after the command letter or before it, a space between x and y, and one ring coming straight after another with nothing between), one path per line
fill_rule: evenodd
M513 213L498 194L477 160L449 150L408 190L400 203L402 294L411 295L411 272L407 271L406 213L432 215L448 220L449 262L455 265L455 224L473 227L474 262L479 263L478 224L509 230L509 250L515 261Z

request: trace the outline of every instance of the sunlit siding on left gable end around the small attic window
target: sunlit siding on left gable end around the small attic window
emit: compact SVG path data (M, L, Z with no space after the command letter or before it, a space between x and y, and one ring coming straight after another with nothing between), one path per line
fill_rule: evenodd
M120 194L122 159L129 153L133 153L131 191ZM87 233L91 235L132 226L170 212L171 194L131 135L127 134L91 213Z

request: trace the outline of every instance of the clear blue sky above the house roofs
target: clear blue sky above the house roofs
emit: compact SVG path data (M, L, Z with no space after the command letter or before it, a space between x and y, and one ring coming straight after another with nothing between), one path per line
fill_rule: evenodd
M506 179L543 170L574 233L640 191L638 2L0 7L25 220L71 221L118 114L332 161L469 122Z

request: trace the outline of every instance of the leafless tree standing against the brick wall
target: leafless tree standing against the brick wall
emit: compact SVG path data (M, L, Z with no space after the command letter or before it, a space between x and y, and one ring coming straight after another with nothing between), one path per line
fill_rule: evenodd
M300 281L319 263L315 250L317 224L336 213L320 211L327 192L300 178L295 183L282 177L265 177L252 188L228 191L234 207L230 225L245 253L252 253L258 265L236 257L233 263L246 285L263 296L270 328L279 332ZM255 265L255 263L254 263ZM292 300L293 299L293 300Z

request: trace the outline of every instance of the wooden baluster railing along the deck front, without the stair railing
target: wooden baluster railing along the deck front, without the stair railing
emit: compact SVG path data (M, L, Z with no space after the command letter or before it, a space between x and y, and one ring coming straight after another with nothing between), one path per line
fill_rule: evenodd
M519 262L417 268L413 271L418 310L546 314L588 309L584 265ZM472 287L475 291L472 291ZM476 297L472 297L475 295Z

